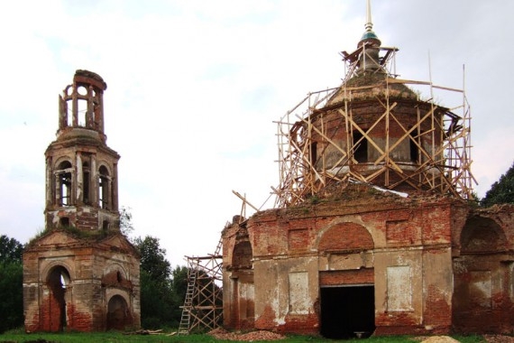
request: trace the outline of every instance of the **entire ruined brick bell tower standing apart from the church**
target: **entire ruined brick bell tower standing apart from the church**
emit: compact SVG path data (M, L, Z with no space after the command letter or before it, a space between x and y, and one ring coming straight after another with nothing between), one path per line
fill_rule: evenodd
M77 70L46 152L45 228L23 252L25 329L138 328L139 255L120 232L119 154L106 144L106 82Z

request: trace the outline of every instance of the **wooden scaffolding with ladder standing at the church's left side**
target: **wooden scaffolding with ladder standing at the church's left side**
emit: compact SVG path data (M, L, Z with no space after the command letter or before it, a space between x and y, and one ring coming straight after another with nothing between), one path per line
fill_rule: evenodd
M214 255L189 257L188 289L182 308L179 335L219 328L223 324L222 240Z

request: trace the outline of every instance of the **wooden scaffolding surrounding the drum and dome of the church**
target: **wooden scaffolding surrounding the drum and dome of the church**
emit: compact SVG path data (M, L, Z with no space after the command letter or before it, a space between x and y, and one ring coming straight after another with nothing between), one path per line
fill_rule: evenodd
M351 54L345 51L342 53L346 71L341 87L308 93L307 97L303 98L297 106L275 122L277 124L280 175L279 186L272 188L276 195L275 207L284 208L298 204L326 187L327 182L344 181L345 179L372 182L380 178L384 181L386 189L393 190L403 182L408 183L415 190L434 190L462 199L473 199L471 113L464 86L463 89L445 88L434 85L431 80L399 79L395 70L395 55L398 49L380 47L378 49L382 57L375 62L381 66L380 71L385 72L385 86L382 83L381 85L349 87L347 86L348 80L358 75L359 66L363 63L363 55L372 59L372 55L367 54L366 47L367 44L364 43ZM376 49L375 47L375 51ZM425 91L428 89L429 98L427 100L420 98L422 93L420 90L416 92L419 97L418 101L429 107L427 112L420 112L418 108L417 125L403 126L396 116L395 107L398 103L394 97L390 97L390 88L399 83L409 88L425 88ZM381 107L382 115L376 118L375 122L366 123L366 126L363 126L353 116L352 107L349 106L354 101L353 94L355 91L365 89L370 89L371 94L378 87L381 88L381 94L376 96L373 101L376 106ZM459 103L454 107L440 107L434 101L436 97L441 96L436 94L437 92L458 94L460 96L457 97ZM332 137L326 133L323 125L313 125L313 120L317 120L317 123L323 122L324 112L322 109L336 93L342 104L337 111L345 124L348 136L351 137L353 133L358 133L360 136L360 139L356 141L348 139L345 146L335 143ZM436 114L440 117L436 118ZM384 141L378 142L370 135L373 127L379 122L386 127L383 136L385 144ZM430 129L422 131L421 123L424 123L425 126L430 123ZM403 130L399 139L398 137L391 139L388 127L392 124L399 125ZM421 144L422 136L426 134L430 134L432 137L433 143L430 147ZM324 146L330 145L332 151L336 150L341 155L340 160L335 165L330 165L330 168L325 166L326 156L323 152L313 153L312 151L313 145L316 144L313 140L315 135L322 137ZM367 162L373 168L372 174L364 174L359 172L359 168L354 168L359 164L355 158L355 152L363 140L367 140L366 144L374 150L375 155L379 156L374 161ZM439 142L435 142L436 140ZM405 173L399 162L395 162L394 159L395 149L402 142L405 144L406 141L408 144L415 144L421 156L414 166L415 170L408 173ZM346 172L335 173L336 170ZM476 183L476 181L474 182Z

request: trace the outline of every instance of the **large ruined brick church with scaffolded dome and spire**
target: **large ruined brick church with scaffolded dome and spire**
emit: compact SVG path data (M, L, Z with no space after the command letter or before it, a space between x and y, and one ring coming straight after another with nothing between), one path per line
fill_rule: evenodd
M274 209L223 239L224 325L352 338L512 333L514 208L473 205L464 90L399 79L368 2L334 89L278 121ZM443 107L411 87L462 94Z

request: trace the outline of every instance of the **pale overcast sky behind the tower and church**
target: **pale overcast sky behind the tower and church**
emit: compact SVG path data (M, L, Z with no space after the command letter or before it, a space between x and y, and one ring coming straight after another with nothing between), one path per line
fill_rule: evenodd
M508 0L372 1L402 79L430 79L429 65L436 85L465 79L480 197L513 162L513 13ZM107 144L122 156L134 236L159 237L173 266L213 253L241 210L232 190L261 207L278 185L273 120L341 84L339 52L364 23L365 0L2 2L0 233L26 243L44 227L43 153L58 95L82 69L107 83Z

